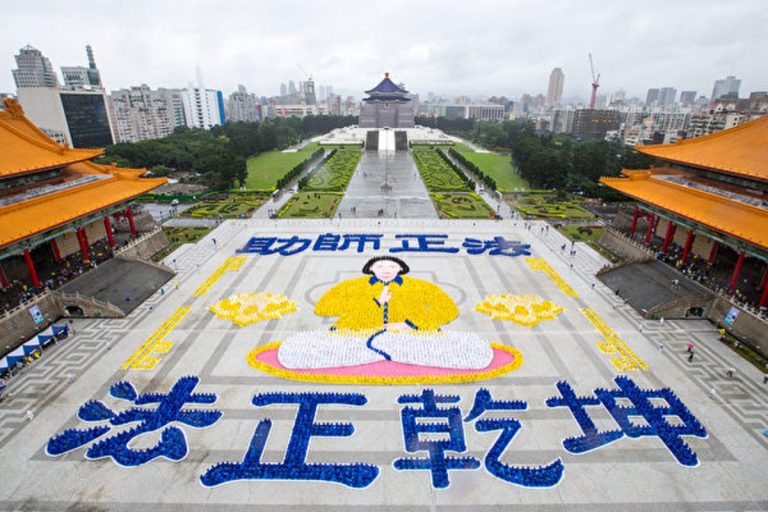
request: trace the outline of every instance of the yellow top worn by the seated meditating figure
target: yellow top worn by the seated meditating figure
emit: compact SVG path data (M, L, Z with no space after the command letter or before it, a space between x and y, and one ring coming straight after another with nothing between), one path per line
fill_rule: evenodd
M340 330L369 331L384 327L385 307L378 302L384 283L362 276L328 290L315 306L318 316L338 316ZM386 307L387 323L406 322L419 331L436 331L459 316L459 308L439 287L408 276L389 284L392 297Z

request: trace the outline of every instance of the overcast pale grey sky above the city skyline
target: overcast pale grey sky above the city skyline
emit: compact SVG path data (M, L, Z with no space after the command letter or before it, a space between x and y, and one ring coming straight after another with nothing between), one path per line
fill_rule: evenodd
M304 79L360 96L389 71L412 92L546 94L553 67L565 96L587 98L592 53L600 92L645 97L672 86L709 96L742 79L768 90L766 0L56 0L2 14L0 92L14 92L14 55L31 44L61 66L93 46L108 89L196 81L258 95ZM61 79L61 77L59 77Z

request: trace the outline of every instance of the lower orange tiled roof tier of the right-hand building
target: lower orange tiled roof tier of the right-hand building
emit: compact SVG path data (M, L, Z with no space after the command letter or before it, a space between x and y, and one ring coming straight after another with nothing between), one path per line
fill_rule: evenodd
M624 171L628 178L600 182L638 201L658 206L720 233L768 250L768 211L727 197L654 179L650 171Z

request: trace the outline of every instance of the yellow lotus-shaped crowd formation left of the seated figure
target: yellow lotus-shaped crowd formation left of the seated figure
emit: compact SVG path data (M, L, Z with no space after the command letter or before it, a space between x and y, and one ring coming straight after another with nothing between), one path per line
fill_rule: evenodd
M296 303L281 293L238 293L208 308L219 318L240 327L272 320L296 311Z

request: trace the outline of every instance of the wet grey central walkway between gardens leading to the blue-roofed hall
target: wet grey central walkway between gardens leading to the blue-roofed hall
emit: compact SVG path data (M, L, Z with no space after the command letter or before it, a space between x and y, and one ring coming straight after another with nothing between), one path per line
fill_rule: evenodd
M410 153L366 151L337 215L374 218L380 217L379 210L383 210L381 217L438 218Z

